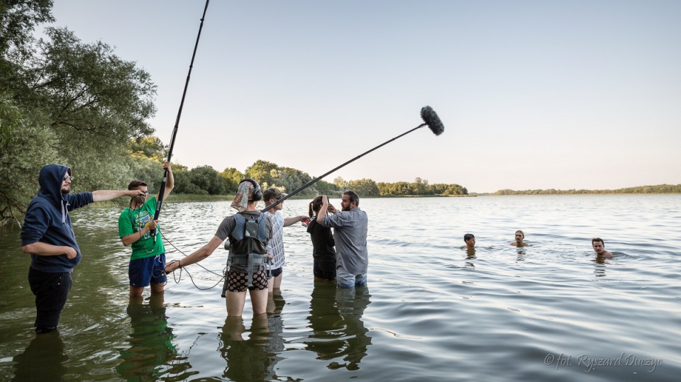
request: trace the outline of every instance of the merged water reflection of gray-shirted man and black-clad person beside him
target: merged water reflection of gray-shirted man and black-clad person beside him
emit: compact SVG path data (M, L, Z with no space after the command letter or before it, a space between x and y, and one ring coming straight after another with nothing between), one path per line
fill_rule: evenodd
M360 369L360 361L371 344L362 315L371 303L369 289L336 288L336 283L315 280L307 318L314 332L307 349L317 359L331 361L328 369ZM342 357L341 361L338 361Z

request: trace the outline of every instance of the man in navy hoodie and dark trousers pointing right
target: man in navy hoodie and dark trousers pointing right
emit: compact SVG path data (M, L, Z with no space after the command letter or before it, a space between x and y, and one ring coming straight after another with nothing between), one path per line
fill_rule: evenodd
M71 272L81 259L69 212L89 203L119 196L140 196L142 191L71 192L71 169L48 164L40 169L40 191L26 209L21 227L21 250L31 254L28 283L35 295L35 332L57 329L71 289Z

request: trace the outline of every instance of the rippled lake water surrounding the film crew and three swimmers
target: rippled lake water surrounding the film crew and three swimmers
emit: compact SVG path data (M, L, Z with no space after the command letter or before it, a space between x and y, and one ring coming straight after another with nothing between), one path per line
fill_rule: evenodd
M333 201L336 206L340 203ZM362 199L367 288L315 283L309 235L284 228L267 320L226 320L226 251L128 299L116 208L72 214L84 254L57 335L33 334L18 228L0 231L0 378L16 381L678 381L681 196ZM307 211L284 202L283 215ZM229 203L168 203L189 254ZM511 247L515 230L531 247ZM475 234L477 251L461 247ZM597 261L591 238L614 259ZM168 259L182 254L166 243ZM180 276L179 272L175 276ZM193 282L192 282L193 281Z

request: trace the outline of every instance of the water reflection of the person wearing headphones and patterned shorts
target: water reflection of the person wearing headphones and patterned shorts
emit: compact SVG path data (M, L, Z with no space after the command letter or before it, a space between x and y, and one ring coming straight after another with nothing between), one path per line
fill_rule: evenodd
M267 313L253 316L248 339L243 318L228 316L222 327L220 353L227 361L223 377L230 381L272 381L283 350L281 336L270 332ZM279 346L281 345L281 348Z

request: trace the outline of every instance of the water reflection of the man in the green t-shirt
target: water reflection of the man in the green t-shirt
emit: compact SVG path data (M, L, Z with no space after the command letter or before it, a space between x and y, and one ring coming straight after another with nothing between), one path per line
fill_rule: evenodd
M130 316L132 332L128 335L130 347L121 351L123 362L116 371L127 381L156 379L167 370L163 366L177 354L172 339L172 329L168 327L163 294L153 295L145 304L143 297L131 297L127 313Z

